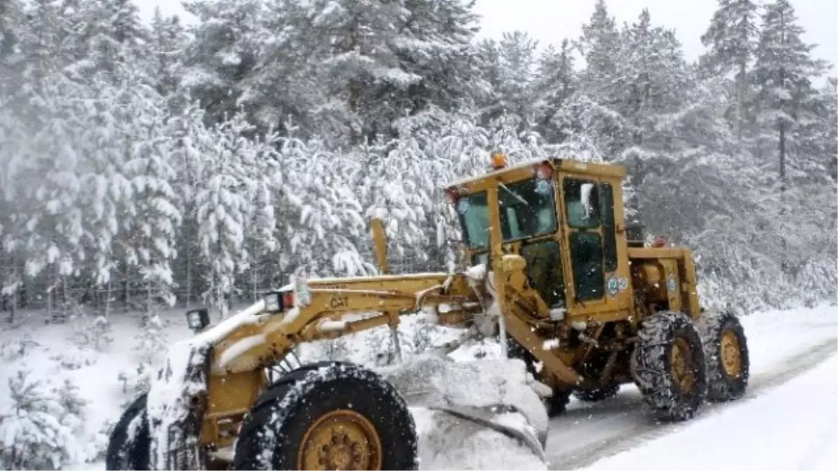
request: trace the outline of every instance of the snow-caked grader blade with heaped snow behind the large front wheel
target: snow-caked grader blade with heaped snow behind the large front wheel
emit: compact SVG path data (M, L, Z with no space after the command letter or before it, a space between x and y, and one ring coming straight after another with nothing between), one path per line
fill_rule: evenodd
M546 410L522 361L429 355L378 372L411 406L422 469L546 470ZM529 439L509 437L484 421Z

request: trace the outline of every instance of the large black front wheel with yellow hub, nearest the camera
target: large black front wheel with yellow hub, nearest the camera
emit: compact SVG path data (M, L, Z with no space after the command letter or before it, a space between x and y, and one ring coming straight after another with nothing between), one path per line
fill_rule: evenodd
M274 383L245 417L236 471L418 469L413 417L390 383L356 365L323 363ZM356 468L353 468L356 469Z

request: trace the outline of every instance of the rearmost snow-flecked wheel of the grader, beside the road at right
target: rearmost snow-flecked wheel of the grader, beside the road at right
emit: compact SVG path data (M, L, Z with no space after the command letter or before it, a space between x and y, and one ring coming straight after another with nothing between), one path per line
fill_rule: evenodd
M745 395L751 362L742 324L733 313L705 313L697 323L707 361L707 400Z

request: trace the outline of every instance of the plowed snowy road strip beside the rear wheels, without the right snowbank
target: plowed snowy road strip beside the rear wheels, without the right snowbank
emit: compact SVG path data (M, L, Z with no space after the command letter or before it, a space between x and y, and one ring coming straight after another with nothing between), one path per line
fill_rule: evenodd
M565 415L551 420L547 442L551 471L585 468L602 458L691 427L696 421L742 406L838 354L838 312L835 317L829 315L804 323L793 323L790 318L760 322L765 320L746 318L743 322L752 356L747 396L726 404L706 404L693 421L677 424L654 422L634 386L623 386L618 396L596 404L573 401ZM788 324L777 329L778 323Z

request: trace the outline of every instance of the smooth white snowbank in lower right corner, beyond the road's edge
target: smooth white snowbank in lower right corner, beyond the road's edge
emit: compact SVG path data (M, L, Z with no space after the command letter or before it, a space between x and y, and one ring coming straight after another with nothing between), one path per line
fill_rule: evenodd
M584 469L668 471L677 463L682 471L835 471L836 373L838 356L832 354L788 383L758 392L750 401L713 410L688 427Z

